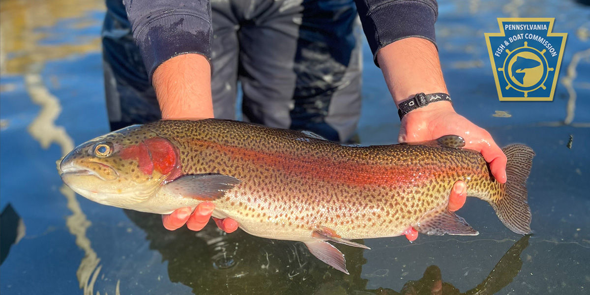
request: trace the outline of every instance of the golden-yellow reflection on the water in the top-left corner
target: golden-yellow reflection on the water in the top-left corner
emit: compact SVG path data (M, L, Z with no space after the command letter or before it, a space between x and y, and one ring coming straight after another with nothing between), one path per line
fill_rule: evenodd
M100 11L104 10L102 0L2 0L1 3L2 74L24 74L34 64L100 49L98 25Z

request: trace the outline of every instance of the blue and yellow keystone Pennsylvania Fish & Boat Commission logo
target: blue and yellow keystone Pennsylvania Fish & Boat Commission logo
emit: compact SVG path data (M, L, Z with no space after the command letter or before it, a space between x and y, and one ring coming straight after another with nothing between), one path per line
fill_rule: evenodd
M498 18L486 33L500 100L553 100L567 33L552 33L555 18Z

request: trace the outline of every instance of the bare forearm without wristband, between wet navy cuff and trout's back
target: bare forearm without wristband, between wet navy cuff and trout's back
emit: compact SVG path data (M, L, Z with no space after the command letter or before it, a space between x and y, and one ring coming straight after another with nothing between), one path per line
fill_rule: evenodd
M156 68L152 84L162 119L212 118L211 65L201 54L182 54Z

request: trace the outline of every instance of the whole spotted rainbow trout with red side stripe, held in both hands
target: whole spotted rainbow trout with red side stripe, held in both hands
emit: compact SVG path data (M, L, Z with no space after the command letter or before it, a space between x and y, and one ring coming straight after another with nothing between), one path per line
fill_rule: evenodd
M503 148L507 181L460 136L381 146L347 146L311 132L232 120L160 120L89 140L58 166L73 191L100 204L155 214L212 202L251 235L300 241L348 274L330 242L427 235L477 235L447 209L456 181L487 201L510 230L530 232L526 179L535 153Z

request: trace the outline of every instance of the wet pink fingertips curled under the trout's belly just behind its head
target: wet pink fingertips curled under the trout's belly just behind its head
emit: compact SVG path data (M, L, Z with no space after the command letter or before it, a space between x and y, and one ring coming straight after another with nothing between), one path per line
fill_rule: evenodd
M202 202L193 212L191 212L192 208L190 207L179 208L169 215L162 215L162 223L166 230L170 231L176 230L185 224L191 231L200 231L209 222L213 209L215 209L215 205L211 202ZM235 222L234 219L213 219L217 227L228 234L238 229L238 222Z

